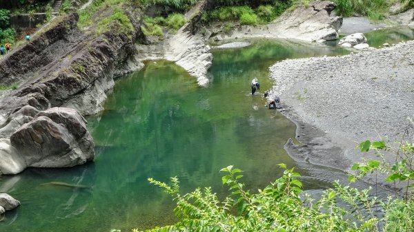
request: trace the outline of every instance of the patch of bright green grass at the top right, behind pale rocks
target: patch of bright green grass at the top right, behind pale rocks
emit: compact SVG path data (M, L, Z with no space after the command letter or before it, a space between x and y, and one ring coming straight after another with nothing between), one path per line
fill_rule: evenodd
M386 0L335 0L335 3L337 3L336 12L341 16L350 17L354 14L360 14L371 20L384 19L390 6L390 1Z

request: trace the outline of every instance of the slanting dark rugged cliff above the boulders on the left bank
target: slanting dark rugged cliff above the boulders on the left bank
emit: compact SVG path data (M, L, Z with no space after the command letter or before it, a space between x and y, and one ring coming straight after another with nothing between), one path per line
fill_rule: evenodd
M139 32L139 15L125 13ZM69 15L0 62L0 83L21 86L0 99L0 125L23 105L39 110L70 105L83 115L101 110L115 70L134 54L137 33L128 36L115 25L94 36L77 28L78 19Z

